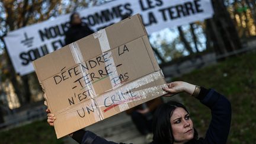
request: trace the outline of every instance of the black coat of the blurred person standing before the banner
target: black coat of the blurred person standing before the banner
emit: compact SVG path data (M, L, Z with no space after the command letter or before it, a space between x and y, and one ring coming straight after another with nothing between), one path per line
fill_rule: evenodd
M94 31L92 31L86 24L71 25L65 33L65 44L68 45L73 43L76 40L89 36L92 33L94 33Z

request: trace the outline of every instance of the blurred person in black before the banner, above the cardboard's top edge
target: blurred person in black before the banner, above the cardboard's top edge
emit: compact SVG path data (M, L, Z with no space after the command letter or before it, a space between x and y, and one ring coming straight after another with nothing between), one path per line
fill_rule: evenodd
M77 12L74 12L73 14L71 14L69 23L71 26L69 27L68 31L66 31L65 33L66 45L94 33L94 31L91 30L87 26L87 24L82 23L80 15Z

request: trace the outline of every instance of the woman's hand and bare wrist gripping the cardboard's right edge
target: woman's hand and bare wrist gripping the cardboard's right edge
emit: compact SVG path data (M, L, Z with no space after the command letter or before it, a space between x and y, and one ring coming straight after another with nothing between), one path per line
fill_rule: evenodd
M171 96L179 92L187 92L192 95L196 85L189 84L183 81L175 81L167 84L168 87L162 88L164 91L168 92L165 96Z

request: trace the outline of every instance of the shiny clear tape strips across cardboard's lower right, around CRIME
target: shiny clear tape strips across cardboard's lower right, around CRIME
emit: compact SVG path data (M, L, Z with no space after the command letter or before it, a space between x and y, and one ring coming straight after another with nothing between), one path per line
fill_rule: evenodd
M157 95L164 95L166 94L166 92L162 91L162 87L167 87L166 84L156 85L153 87L146 86L148 84L152 84L152 82L159 81L162 78L164 78L162 72L157 71L149 75L143 76L142 78L139 78L128 84L124 84L119 88L113 89L113 91L100 95L97 100L101 102L104 101L104 105L101 104L98 106L107 107L105 108L105 110L103 110L103 113L117 106L119 107L120 111L124 111L129 108L127 104L129 104L131 101L136 102L140 100L145 100L146 98L149 98L147 96L153 94L154 92L158 92L156 93ZM113 99L113 97L115 97L115 100L119 102L113 103L113 100L111 100Z

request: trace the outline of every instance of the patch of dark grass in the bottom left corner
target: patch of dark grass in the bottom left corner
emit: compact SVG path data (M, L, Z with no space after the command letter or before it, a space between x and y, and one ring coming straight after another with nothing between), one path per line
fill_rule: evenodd
M54 128L43 120L1 132L0 143L63 143L63 140L57 139Z

